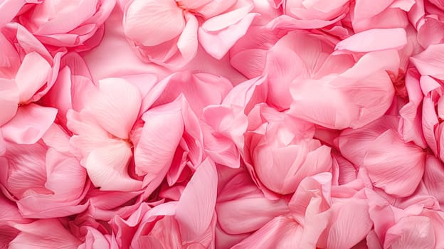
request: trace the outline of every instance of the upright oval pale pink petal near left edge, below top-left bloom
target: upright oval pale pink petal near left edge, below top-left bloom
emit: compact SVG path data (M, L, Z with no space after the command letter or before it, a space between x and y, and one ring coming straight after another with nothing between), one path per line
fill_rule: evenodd
M48 81L51 65L36 52L28 53L23 58L16 75L16 84L20 102L27 102Z

